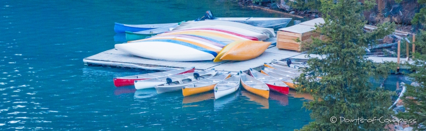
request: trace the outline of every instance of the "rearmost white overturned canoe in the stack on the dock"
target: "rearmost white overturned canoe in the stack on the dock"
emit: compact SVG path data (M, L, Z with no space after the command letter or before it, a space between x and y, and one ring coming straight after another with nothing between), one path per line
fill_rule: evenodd
M173 30L180 30L185 28L197 27L197 26L211 26L211 25L223 25L223 26L233 26L241 29L251 30L254 32L268 34L270 37L276 37L276 33L273 28L263 28L255 27L247 24L237 23L237 22L227 22L227 21L189 21L181 23L178 27Z

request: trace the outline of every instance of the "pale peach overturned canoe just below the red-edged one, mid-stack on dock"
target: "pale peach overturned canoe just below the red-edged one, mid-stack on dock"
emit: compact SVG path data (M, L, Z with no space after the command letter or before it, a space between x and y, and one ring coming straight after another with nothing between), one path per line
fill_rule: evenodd
M162 33L158 35L171 35L171 34L193 34L193 35L201 35L201 36L215 36L219 38L226 38L233 41L237 41L237 40L258 41L258 39L253 36L245 36L245 35L236 34L236 33L232 34L232 33L227 33L227 32L222 32L217 30L181 30L181 31L175 31L175 32Z

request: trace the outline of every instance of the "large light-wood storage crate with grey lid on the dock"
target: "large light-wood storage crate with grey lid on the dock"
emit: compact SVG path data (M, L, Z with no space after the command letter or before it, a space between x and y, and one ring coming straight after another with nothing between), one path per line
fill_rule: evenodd
M312 37L322 39L319 33L312 32L313 26L294 25L279 29L277 33L277 48L302 51L304 49L302 42L312 42ZM296 42L299 39L301 42Z

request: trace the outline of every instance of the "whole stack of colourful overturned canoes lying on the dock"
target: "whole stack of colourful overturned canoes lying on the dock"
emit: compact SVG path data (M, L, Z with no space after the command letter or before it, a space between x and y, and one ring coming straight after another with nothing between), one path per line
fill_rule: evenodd
M116 44L115 49L139 57L165 61L245 61L258 57L275 33L235 22L190 22L151 38ZM204 24L198 24L204 23Z

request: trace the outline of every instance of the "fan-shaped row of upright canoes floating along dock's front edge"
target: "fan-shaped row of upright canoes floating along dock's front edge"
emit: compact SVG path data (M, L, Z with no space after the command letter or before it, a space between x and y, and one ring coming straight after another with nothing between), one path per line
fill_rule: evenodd
M265 63L260 72L250 69L248 73L240 71L232 75L231 72L220 73L215 69L195 71L191 67L114 78L114 85L134 85L137 90L155 88L157 93L182 91L184 97L213 90L215 99L234 93L241 85L245 90L268 99L270 90L288 95L289 88L295 88L292 79L299 76L296 68Z

